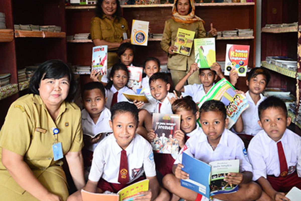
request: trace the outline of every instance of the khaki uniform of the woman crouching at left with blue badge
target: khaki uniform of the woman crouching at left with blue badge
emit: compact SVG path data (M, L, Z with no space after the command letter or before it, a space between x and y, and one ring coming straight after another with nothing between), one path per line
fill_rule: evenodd
M38 131L36 130L37 128ZM52 128L58 128L63 154L83 147L81 112L75 103L63 102L55 121L39 95L28 94L13 102L0 131L0 147L24 156L33 174L48 191L67 199L67 180L61 160L53 160ZM3 200L35 200L11 177L1 162L0 197Z

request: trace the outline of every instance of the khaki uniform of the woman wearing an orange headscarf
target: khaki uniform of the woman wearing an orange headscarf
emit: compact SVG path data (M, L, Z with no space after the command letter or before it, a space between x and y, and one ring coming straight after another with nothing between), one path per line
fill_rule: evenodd
M168 53L168 48L175 44L175 38L177 37L178 28L195 31L194 38L204 38L206 37L206 31L202 21L197 21L191 24L179 23L172 18L165 21L165 27L163 31L161 48ZM174 54L169 55L167 68L178 71L186 71L191 64L194 63L194 45L192 45L190 56Z

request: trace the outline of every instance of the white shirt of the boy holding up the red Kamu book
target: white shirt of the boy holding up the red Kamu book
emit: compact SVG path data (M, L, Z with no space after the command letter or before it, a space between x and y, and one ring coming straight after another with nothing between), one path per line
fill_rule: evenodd
M260 99L256 105L253 99L251 98L249 91L247 91L246 93L246 98L248 100L249 107L241 114L241 117L243 118L244 122L244 131L242 133L254 136L260 130L262 130L262 128L258 124L258 106L262 101L266 99L266 97L260 94Z

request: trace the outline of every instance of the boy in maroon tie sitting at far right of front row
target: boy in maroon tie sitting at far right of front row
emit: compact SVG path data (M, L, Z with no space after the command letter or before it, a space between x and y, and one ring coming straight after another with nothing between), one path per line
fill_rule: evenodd
M270 96L258 107L259 131L250 141L249 159L253 180L262 187L259 200L289 200L285 197L292 187L301 189L301 137L288 130L285 103Z

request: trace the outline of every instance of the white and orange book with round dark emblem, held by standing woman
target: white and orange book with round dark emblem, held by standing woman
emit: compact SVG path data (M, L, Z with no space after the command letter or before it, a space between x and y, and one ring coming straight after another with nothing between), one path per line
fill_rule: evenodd
M147 21L132 21L131 43L133 45L147 46L148 26Z

